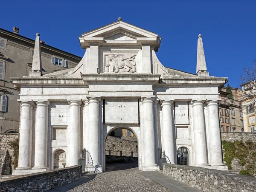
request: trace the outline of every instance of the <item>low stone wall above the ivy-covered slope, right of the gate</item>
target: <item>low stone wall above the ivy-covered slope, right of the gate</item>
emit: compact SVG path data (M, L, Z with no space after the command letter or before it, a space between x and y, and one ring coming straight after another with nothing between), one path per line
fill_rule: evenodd
M256 133L238 133L238 132L232 132L232 133L221 133L221 140L222 141L247 141L250 140L252 142L256 142Z

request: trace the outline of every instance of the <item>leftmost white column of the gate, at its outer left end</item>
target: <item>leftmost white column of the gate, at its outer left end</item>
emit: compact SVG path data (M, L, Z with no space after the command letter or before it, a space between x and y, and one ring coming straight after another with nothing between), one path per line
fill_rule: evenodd
M20 104L19 162L16 169L31 169L33 107L29 101L22 101Z

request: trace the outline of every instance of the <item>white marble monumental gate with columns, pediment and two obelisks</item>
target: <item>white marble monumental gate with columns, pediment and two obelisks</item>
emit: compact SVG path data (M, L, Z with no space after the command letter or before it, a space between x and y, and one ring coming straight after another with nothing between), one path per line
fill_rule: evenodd
M32 71L12 78L21 103L13 174L54 169L56 153L66 167L76 165L83 148L91 165L105 171L106 137L117 129L136 136L140 170L159 169L159 148L171 164L184 150L189 165L227 169L218 114L218 90L227 78L209 76L201 35L196 74L164 67L156 55L158 34L121 18L79 40L86 51L75 68L42 76L37 36Z

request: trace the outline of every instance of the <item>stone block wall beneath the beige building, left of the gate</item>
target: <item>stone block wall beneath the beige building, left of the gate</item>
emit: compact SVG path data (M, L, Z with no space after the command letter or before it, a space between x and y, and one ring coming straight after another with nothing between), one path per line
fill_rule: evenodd
M18 133L0 134L0 175L12 174L14 167L13 165L11 166L11 161L15 157L14 149L10 146L10 141L18 137Z

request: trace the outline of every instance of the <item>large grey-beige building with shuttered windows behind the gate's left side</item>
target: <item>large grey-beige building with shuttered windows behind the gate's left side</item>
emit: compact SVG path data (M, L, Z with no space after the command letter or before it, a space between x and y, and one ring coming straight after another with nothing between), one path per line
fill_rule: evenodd
M0 133L18 133L20 124L19 90L11 77L28 76L31 71L35 40L0 28ZM81 57L41 43L42 74L75 67Z

